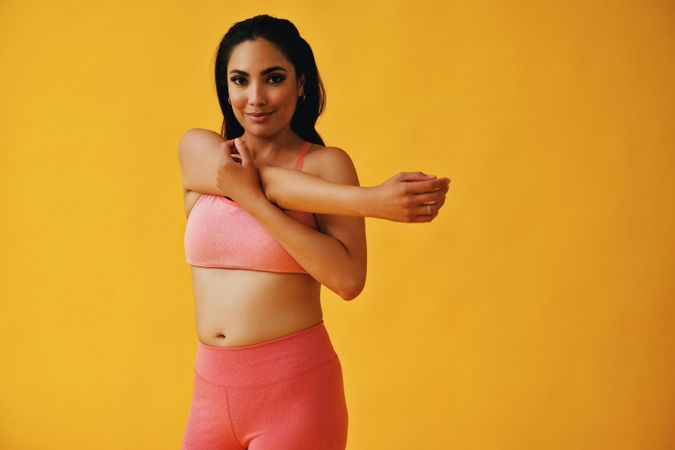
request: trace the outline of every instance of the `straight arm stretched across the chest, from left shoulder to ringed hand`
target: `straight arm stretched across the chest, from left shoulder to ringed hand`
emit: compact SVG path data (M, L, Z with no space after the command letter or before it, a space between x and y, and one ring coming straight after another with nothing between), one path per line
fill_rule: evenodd
M228 196L217 182L218 170L227 158L223 142L218 133L201 128L183 135L178 156L186 191ZM260 166L258 173L266 197L282 208L397 222L435 218L445 202L449 182L447 178L427 178L419 172L401 172L378 186L361 187L331 183L307 172L281 167ZM425 209L420 206L423 202L435 202L433 216L424 217Z

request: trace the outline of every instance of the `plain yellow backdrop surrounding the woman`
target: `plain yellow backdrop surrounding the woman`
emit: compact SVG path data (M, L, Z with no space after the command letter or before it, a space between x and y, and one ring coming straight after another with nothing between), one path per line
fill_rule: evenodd
M672 2L46 0L0 3L0 447L179 447L177 143L259 13L362 185L452 179L431 224L367 220L360 297L323 290L349 450L675 448Z

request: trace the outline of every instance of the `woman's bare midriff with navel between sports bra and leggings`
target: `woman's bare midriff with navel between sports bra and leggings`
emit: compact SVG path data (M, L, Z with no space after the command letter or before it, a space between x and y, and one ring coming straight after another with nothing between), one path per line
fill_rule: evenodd
M323 320L321 284L309 274L190 267L197 337L206 345L259 344Z

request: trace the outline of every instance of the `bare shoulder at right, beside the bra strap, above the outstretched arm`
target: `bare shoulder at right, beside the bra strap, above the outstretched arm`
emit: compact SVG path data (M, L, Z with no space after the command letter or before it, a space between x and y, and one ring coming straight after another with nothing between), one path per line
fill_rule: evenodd
M333 183L360 186L354 161L340 147L314 144L305 158L302 170Z

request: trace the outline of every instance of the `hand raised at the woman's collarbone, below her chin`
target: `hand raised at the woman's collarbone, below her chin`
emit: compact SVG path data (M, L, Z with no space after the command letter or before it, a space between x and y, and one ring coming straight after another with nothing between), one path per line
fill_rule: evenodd
M244 142L230 139L221 144L224 159L218 168L217 185L244 209L265 194L260 187L260 177ZM232 154L231 152L237 152ZM241 162L235 160L239 159Z

